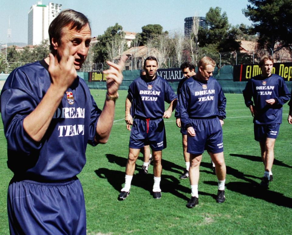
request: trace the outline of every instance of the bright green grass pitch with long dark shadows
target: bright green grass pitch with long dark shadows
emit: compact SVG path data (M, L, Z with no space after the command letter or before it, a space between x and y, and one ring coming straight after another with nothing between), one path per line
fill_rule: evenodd
M91 90L99 107L105 92ZM268 191L258 189L263 175L259 144L253 139L249 109L240 94L226 94L227 119L224 121L224 156L227 165L226 201L217 204L217 178L211 171L210 157L203 154L200 166L199 205L186 208L190 197L189 180L179 180L185 163L182 140L174 115L165 119L167 148L162 156L162 199L150 194L153 167L148 175L138 175L139 156L131 193L125 201L117 196L124 183L130 132L124 122L126 91L120 91L109 141L88 146L87 163L78 175L84 189L88 234L286 234L292 232L291 137L287 123L288 106L275 144L274 181ZM6 140L0 124L0 234L8 234L6 194L11 171L7 168Z

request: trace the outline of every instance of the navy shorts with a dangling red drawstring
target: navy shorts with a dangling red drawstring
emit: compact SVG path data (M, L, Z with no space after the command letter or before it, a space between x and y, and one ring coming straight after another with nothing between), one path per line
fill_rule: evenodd
M150 145L152 150L159 151L166 148L166 135L163 118L142 119L135 118L130 133L129 147L140 149Z

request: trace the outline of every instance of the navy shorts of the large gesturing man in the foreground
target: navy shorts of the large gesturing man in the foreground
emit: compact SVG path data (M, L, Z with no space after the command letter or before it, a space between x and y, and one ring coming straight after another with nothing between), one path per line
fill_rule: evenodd
M9 183L10 234L86 234L85 202L77 177L60 183Z

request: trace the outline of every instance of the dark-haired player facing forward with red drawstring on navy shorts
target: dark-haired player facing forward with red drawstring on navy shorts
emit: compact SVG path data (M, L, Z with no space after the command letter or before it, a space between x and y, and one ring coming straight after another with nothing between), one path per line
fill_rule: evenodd
M127 124L133 125L130 133L129 156L126 166L125 185L122 188L119 200L124 200L130 193L131 181L135 171L140 148L150 145L153 155L153 198L161 198L161 158L162 149L166 148L166 136L163 118L170 118L176 106L176 95L170 85L163 78L156 75L157 59L153 56L144 61L145 76L136 78L129 86L126 99ZM164 101L170 103L165 111ZM131 105L134 107L134 120L130 114Z

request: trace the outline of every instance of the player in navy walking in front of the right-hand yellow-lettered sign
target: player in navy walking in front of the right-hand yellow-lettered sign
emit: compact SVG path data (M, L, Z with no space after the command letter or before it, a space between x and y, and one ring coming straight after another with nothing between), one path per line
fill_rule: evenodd
M290 98L284 79L272 74L273 63L273 57L263 56L259 61L262 74L248 81L243 90L245 105L254 117L255 140L261 148L265 171L260 186L264 189L273 181L274 145L282 123L282 106Z

